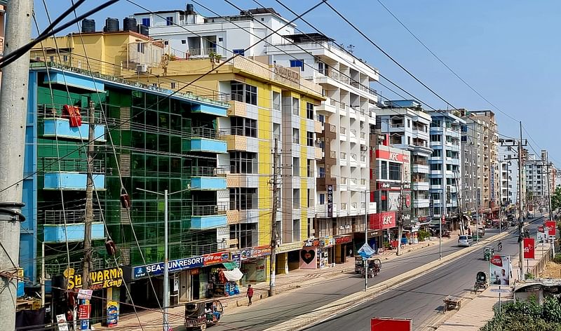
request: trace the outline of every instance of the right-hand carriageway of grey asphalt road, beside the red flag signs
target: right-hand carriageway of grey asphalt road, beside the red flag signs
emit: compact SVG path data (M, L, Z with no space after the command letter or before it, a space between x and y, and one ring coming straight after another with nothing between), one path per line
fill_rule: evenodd
M538 223L542 220L541 217L529 220L532 224L526 229L529 229L534 238ZM513 236L503 239L502 243L501 255L518 255L518 231ZM496 242L494 246L496 248ZM461 296L473 289L475 274L488 270L489 262L484 261L482 255L482 250L476 250L306 330L370 331L370 318L374 316L412 318L413 330L419 330L419 327L426 326L425 322L429 322L436 313L442 311L444 297Z

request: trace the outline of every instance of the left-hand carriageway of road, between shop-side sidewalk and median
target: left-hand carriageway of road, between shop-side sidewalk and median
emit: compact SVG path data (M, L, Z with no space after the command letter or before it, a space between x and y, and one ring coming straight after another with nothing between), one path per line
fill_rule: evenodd
M487 230L485 238L497 234L498 232L497 229ZM515 237L513 237L513 241L515 241ZM448 241L442 245L442 255L446 256L461 249L462 248L457 247L456 241ZM480 252L478 252L477 256L479 257L479 255L481 255ZM475 256L476 255L473 255L474 259ZM374 283L386 281L405 271L434 261L435 259L438 259L438 245L417 250L403 257L398 257L386 262L382 261L381 273L373 279L371 278L369 284L374 285ZM461 259L461 261L464 261L464 259ZM464 263L466 266L469 264L469 262ZM455 268L457 268L457 266ZM447 272L440 273L440 275L451 273L455 268L447 269ZM473 266L469 266L468 269L469 271L466 272L465 278L470 281L466 281L466 284L471 283L470 286L473 286L473 280L475 278ZM212 327L212 330L264 330L363 289L364 278L353 273L347 273L342 276L330 278L329 280L318 281L317 284L306 285L298 290L276 295L271 299L262 300L251 307L240 307L236 309L234 313L224 315L220 325ZM409 301L410 300L407 299L407 302ZM403 303L398 304L398 306L403 309ZM415 306L417 306L417 304L415 304ZM396 309L397 308L398 307L396 307ZM328 325L330 326L331 323L328 323ZM322 328L325 327L326 325L322 326ZM329 327L329 329L334 330L332 327ZM175 330L177 330L177 328L175 328ZM180 328L179 330L184 329ZM355 329L347 328L346 330Z

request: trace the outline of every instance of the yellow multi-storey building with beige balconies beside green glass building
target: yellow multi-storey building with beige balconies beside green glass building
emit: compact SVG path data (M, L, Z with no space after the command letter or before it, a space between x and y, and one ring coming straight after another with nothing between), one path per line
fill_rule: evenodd
M266 56L240 56L218 67L221 63L208 58L170 60L151 74L130 79L170 90L198 79L182 92L230 102L228 117L218 121L228 146L228 154L218 156L218 165L227 174L229 191L222 198L229 205L230 229L224 241L234 239L231 248L271 243L273 149L278 141L276 273L298 269L300 250L313 233L316 160L323 154L316 137L323 124L314 109L325 100L321 87ZM245 281L264 281L268 260L243 264Z

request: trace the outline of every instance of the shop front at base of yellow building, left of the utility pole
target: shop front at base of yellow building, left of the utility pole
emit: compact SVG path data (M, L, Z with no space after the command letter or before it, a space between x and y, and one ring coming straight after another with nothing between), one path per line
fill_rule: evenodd
M269 255L271 255L269 245L232 251L232 262L236 262L243 273L240 279L242 286L266 281L266 257Z

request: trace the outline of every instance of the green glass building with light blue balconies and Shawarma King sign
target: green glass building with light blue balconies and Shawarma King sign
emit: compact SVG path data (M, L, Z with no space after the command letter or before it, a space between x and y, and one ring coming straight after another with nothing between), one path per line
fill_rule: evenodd
M67 84L65 84L67 82ZM72 86L69 88L67 86ZM44 62L31 64L26 128L20 263L34 284L74 290L81 286L81 249L86 217L90 115L94 120L93 283L96 297L154 305L163 278L163 199L138 189L170 191L168 239L172 293L205 297L212 267L226 253L227 179L219 171L215 123L228 104L203 97L170 95L140 83ZM130 203L128 203L130 201ZM107 253L105 241L116 244ZM38 249L41 243L43 247ZM41 256L41 251L44 255ZM215 258L217 257L217 258ZM40 261L44 274L39 273ZM203 263L204 262L204 263ZM196 269L191 273L188 269ZM65 280L66 278L66 280ZM33 287L30 284L30 287ZM53 315L65 313L65 292L46 292ZM123 295L121 296L121 292ZM93 318L103 300L93 298ZM64 310L63 310L64 309Z

